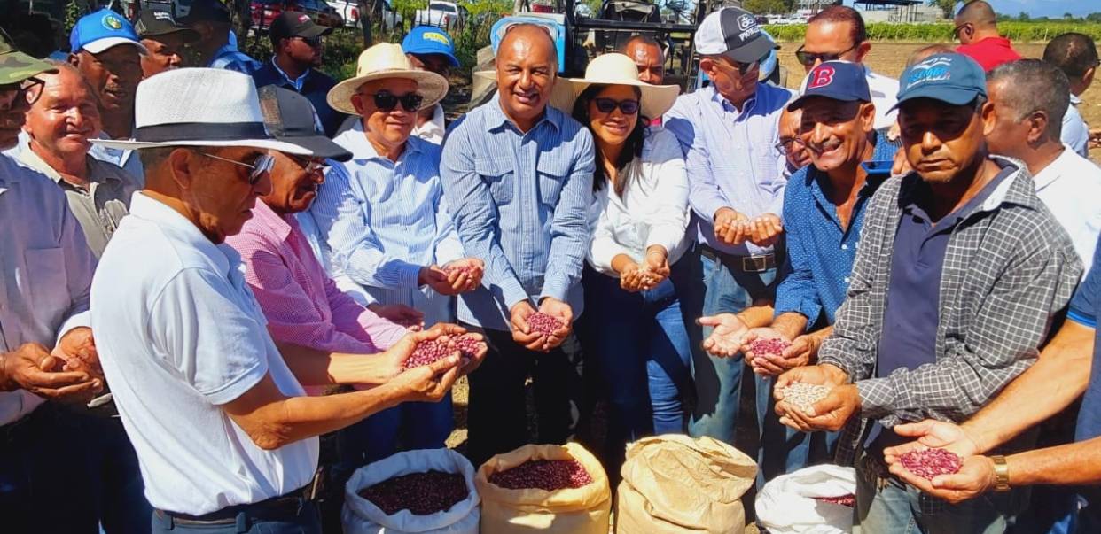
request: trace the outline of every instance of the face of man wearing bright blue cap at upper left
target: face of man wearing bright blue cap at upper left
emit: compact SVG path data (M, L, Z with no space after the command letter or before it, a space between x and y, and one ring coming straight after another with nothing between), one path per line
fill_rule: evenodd
M99 54L81 49L72 56L72 63L99 93L103 113L133 110L134 92L142 78L138 47L121 44Z

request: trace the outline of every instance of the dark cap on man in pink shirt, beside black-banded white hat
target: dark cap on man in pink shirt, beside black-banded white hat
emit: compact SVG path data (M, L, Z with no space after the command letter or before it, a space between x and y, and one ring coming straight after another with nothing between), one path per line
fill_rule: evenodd
M351 153L325 136L321 121L309 100L290 89L264 86L258 90L264 127L272 137L298 145L317 157L337 162L351 159Z

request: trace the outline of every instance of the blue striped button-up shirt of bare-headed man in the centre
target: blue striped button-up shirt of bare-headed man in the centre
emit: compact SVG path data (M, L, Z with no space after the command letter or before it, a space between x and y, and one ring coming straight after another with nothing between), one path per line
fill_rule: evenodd
M444 191L464 247L486 262L482 287L459 298L459 320L508 331L511 308L533 297L581 314L593 155L589 131L550 107L527 133L498 97L453 125Z

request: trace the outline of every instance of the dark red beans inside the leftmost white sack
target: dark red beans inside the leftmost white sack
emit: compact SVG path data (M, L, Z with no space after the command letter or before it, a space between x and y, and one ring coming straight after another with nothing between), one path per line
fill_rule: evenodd
M435 470L388 478L359 492L386 515L402 510L416 515L446 512L468 494L470 490L462 475Z

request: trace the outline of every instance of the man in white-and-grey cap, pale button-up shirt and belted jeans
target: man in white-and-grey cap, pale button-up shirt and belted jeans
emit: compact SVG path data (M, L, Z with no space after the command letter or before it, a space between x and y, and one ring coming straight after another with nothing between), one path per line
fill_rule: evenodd
M693 222L706 281L704 315L737 313L752 304L771 302L783 208L784 155L776 149L780 115L792 92L757 81L760 60L775 44L753 15L722 8L696 32L700 69L711 85L683 94L665 114L665 127L687 156ZM684 305L684 304L683 304ZM704 334L707 335L708 329ZM740 358L694 356L696 410L689 434L734 443L742 381ZM768 382L757 385L757 399L770 399ZM764 415L762 411L759 415ZM783 429L781 429L783 431ZM770 450L783 454L783 445Z

